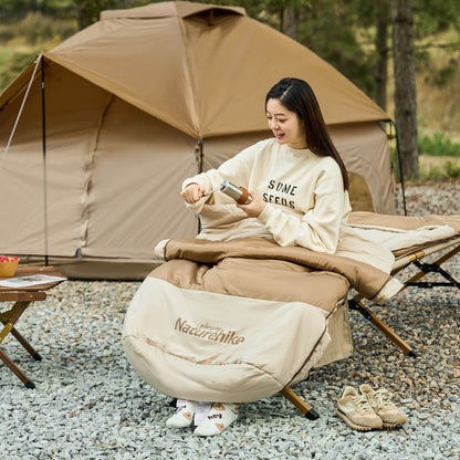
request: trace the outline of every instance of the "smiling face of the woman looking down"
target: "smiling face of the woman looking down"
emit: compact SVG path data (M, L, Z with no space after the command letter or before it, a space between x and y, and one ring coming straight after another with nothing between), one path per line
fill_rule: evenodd
M292 148L306 148L303 124L297 114L286 108L280 100L270 98L266 102L266 121L279 144Z

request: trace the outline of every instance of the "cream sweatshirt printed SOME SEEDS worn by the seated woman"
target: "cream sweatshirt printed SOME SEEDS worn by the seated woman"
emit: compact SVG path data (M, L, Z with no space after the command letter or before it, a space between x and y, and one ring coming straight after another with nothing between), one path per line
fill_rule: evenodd
M186 179L182 189L196 182L209 192L224 179L254 190L266 207L258 218L248 218L232 198L220 191L203 197L187 205L201 218L202 231L197 238L226 241L262 237L280 245L336 251L351 206L333 158L280 145L271 138L245 148L218 169Z

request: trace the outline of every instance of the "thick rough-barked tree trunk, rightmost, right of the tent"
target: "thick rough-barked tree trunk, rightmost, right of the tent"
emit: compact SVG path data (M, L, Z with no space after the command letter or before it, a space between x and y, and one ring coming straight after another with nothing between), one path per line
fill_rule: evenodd
M418 179L417 100L410 0L391 0L395 117L405 178Z

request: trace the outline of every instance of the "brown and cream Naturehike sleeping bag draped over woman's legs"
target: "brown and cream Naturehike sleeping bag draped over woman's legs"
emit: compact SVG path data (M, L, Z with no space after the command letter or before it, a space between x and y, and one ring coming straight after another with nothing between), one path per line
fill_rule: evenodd
M169 240L136 292L123 345L138 374L176 398L245 402L348 356L346 295L389 297L393 279L349 258L263 238Z

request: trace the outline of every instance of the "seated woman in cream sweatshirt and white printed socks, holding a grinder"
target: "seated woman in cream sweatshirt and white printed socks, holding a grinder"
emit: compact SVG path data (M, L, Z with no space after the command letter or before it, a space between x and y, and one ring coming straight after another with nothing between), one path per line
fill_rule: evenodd
M283 79L266 94L265 114L274 138L184 182L184 200L201 217L198 238L262 237L280 245L334 253L351 211L348 178L316 97L306 82ZM228 197L207 195L224 179L248 188L252 201L237 205ZM197 408L209 410L195 431L199 436L222 432L238 417L236 404L211 407L179 400L167 425L191 425Z

